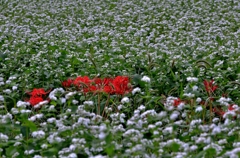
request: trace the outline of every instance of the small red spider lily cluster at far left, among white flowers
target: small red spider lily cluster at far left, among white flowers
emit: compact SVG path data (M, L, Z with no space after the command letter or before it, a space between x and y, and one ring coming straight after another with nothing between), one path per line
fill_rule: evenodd
M30 103L31 106L34 107L38 103L44 101L48 93L49 92L45 92L43 88L34 88L33 91L28 93L30 95L30 98L27 101Z

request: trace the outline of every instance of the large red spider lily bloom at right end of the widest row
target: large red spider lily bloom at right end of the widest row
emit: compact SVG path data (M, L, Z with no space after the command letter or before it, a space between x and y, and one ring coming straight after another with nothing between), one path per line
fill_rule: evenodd
M114 87L114 93L123 95L131 91L131 86L129 86L129 78L127 76L117 76L112 81Z

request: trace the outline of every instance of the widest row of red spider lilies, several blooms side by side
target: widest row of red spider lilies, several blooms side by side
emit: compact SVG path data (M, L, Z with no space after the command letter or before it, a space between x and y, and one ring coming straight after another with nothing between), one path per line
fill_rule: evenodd
M117 76L115 78L94 78L90 79L88 76L79 76L75 79L67 79L62 82L64 88L71 86L76 87L77 90L84 93L104 92L107 94L124 95L132 90L129 77Z

